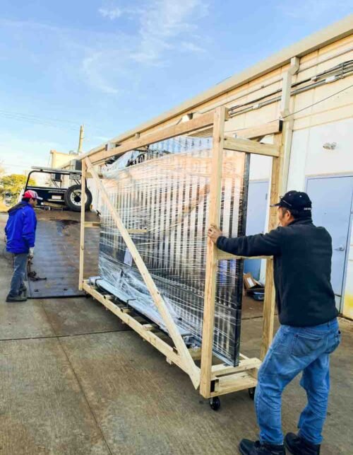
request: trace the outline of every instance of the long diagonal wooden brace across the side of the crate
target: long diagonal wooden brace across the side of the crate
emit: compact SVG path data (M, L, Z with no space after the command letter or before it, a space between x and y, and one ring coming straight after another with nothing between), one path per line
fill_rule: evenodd
M164 324L167 327L168 333L172 338L174 345L177 347L177 351L178 354L180 355L181 361L184 362L184 371L188 372L191 381L193 382L193 385L195 386L195 388L197 388L200 382L199 370L198 367L196 367L195 362L193 362L190 352L186 347L183 338L180 335L179 328L174 323L172 315L170 314L169 309L164 302L164 299L162 298L159 290L157 289L157 286L155 285L155 282L153 281L150 272L148 272L148 268L143 262L140 253L138 253L135 243L133 243L130 234L128 234L128 230L124 226L124 223L121 220L119 213L116 211L116 208L109 199L109 195L105 190L104 186L102 185L102 182L100 181L100 178L98 177L95 168L92 166L90 159L86 158L85 162L88 166L88 169L92 173L95 182L97 183L97 187L100 190L100 195L102 196L102 199L107 205L107 209L109 210L110 214L112 214L112 218L114 219L122 238L124 238L126 246L130 251L131 256L133 257L133 260L135 261L136 267L138 267L138 270L141 276L143 277L143 281L145 282L148 291L150 292L152 299L155 302L158 311L160 312L160 316L162 316Z

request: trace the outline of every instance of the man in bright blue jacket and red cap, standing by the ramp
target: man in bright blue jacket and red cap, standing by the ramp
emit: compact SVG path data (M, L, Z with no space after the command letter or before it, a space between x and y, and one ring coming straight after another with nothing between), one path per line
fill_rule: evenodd
M10 292L6 297L8 302L27 300L27 290L24 284L25 267L28 258L33 258L35 250L37 200L42 200L42 197L38 197L37 192L25 191L22 201L8 210L8 220L5 226L6 250L13 253L13 277Z

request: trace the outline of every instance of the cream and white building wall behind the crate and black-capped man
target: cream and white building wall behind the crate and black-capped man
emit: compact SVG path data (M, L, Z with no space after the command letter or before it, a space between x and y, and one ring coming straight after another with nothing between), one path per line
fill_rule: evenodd
M352 36L334 43L327 48L301 59L300 71L293 82L309 79L337 64L353 59ZM337 55L339 54L339 55ZM332 55L332 58L330 56ZM314 64L316 63L316 64ZM282 69L282 71L285 69ZM278 73L273 71L260 78L257 83L269 83L276 79ZM265 79L264 79L265 78ZM254 81L255 82L255 81ZM353 175L353 76L338 79L332 83L313 88L291 98L291 110L294 112L291 156L287 190L306 188L306 178L312 175ZM273 85L274 88L276 84ZM250 89L250 87L248 87ZM341 92L341 93L337 93ZM256 93L260 97L262 92ZM325 99L326 98L326 99ZM246 98L244 98L245 100ZM242 100L237 100L241 102ZM230 104L232 105L232 104ZM310 106L310 107L309 107ZM261 111L263 111L261 113ZM280 103L253 110L229 120L227 129L230 132L246 127L269 122L280 117ZM325 143L335 142L333 150L323 148ZM250 180L270 179L270 160L261 156L251 157ZM342 195L345 197L346 195ZM346 197L349 197L347 195ZM266 225L268 220L266 220ZM345 289L342 294L342 313L353 318L353 229L348 252ZM261 279L265 268L261 267Z

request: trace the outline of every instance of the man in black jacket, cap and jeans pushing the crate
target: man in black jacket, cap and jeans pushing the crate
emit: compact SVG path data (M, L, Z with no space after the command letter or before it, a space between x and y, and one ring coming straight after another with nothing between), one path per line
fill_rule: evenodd
M276 304L280 318L268 354L258 372L255 408L260 441L243 439L243 455L285 454L281 398L285 386L302 372L308 404L299 433L288 433L285 446L294 455L320 453L327 413L329 356L340 344L335 295L330 284L332 241L313 225L311 200L289 191L278 204L280 227L268 234L226 238L216 226L208 236L220 250L241 256L273 255Z

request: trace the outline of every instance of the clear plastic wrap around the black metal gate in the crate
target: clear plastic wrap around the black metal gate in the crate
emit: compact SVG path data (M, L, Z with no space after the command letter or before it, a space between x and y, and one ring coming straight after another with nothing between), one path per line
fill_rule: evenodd
M102 171L104 187L175 323L196 344L202 341L211 154L212 138L177 137ZM248 156L225 151L220 227L226 236L244 234L248 180ZM109 210L103 205L101 212L97 284L166 330ZM242 273L241 260L218 263L213 352L234 365Z

